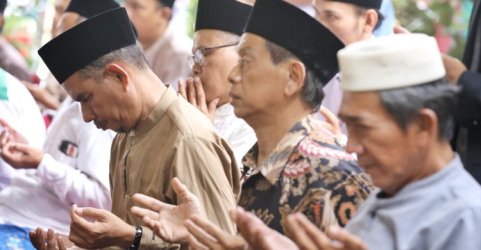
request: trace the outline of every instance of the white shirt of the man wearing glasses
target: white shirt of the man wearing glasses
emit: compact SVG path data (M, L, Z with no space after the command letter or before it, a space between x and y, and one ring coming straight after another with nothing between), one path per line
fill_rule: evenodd
M234 107L226 103L215 111L214 127L219 131L224 140L229 143L237 165L243 170L242 158L257 142L254 130L243 120L234 114Z

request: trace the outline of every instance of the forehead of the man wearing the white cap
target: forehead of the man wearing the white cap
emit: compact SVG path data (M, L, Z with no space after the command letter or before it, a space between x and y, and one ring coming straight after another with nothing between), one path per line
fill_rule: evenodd
M382 106L379 93L375 91L345 91L339 115L343 118L356 117L371 121L392 119Z

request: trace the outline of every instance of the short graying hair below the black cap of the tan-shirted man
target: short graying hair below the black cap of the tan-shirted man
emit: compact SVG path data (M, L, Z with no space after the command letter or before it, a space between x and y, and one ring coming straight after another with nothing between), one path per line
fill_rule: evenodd
M114 61L122 61L137 69L150 68L149 62L144 53L137 45L131 45L106 54L97 60L89 63L78 72L84 79L92 78L98 83L104 82L105 67Z

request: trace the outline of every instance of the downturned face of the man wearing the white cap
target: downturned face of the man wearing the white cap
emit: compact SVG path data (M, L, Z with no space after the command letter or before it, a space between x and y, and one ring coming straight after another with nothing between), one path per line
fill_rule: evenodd
M339 116L348 128L346 151L357 154L375 186L396 193L422 169L415 126L402 130L377 92L344 92Z

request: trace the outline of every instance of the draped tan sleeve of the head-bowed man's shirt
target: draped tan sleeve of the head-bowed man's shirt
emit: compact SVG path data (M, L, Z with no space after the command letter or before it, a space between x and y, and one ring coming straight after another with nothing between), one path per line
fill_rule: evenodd
M220 139L213 142L201 136L184 137L178 145L170 179L178 177L199 198L205 217L235 235L229 211L236 206L234 194L240 190L240 174L232 152L219 142ZM182 203L171 185L166 196Z

